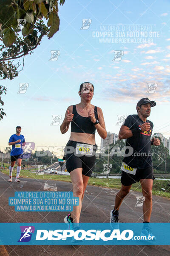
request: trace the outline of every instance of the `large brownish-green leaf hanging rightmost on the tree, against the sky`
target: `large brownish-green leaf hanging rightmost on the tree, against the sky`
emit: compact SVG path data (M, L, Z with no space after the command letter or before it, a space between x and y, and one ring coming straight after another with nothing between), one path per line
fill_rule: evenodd
M51 38L59 30L59 17L57 13L50 13L47 25L50 26L48 38Z

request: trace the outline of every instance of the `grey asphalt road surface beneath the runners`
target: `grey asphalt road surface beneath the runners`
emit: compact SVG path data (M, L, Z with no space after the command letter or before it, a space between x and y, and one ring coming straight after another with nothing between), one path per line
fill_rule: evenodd
M21 179L21 183L9 183L8 177L0 172L0 222L62 222L65 212L15 212L8 206L8 197L15 191L44 191L45 183L57 191L71 191L68 182L54 180ZM94 179L95 181L95 179ZM107 181L106 181L107 183ZM82 222L109 222L110 210L116 195L116 189L88 186L82 204ZM120 222L142 222L142 207L135 207L139 192L131 191L120 209ZM170 200L153 196L151 222L170 221ZM169 256L170 246L135 245L14 245L5 246L10 256ZM3 255L3 254L2 254ZM5 254L4 254L5 255ZM0 255L1 256L1 255Z

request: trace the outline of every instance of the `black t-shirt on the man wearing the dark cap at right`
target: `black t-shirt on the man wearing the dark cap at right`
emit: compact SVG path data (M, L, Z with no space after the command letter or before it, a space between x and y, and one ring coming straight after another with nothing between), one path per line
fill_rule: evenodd
M125 154L130 154L130 151L133 151L133 153L130 154L130 156L125 155L123 162L133 168L145 169L153 166L150 152L150 138L153 130L153 122L149 120L146 120L146 122L150 123L150 131L141 131L141 133L135 134L126 140L126 147L132 147L133 149L129 150L127 148ZM125 119L123 125L132 130L134 128L139 128L143 123L144 121L142 121L138 115L129 115Z

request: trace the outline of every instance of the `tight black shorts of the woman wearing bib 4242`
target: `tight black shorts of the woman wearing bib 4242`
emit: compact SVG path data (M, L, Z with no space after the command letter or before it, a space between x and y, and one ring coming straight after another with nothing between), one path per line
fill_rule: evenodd
M92 171L94 169L94 164L96 161L97 145L96 144L93 145L93 154L90 156L85 154L84 155L76 154L77 143L88 144L88 143L82 143L82 142L73 141L73 140L68 141L64 151L66 151L66 147L73 147L72 151L74 152L69 153L67 150L67 153L65 153L65 156L63 157L66 163L66 169L68 172L71 172L74 169L82 168L82 174L85 176L91 177Z

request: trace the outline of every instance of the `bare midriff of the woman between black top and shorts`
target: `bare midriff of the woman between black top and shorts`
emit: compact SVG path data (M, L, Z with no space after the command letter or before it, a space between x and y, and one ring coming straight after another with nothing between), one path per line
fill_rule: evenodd
M79 132L71 132L70 139L74 141L79 141L82 143L88 143L91 145L95 145L95 134L85 134L85 133L79 133Z

